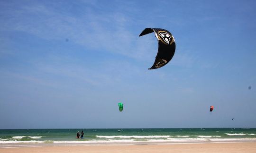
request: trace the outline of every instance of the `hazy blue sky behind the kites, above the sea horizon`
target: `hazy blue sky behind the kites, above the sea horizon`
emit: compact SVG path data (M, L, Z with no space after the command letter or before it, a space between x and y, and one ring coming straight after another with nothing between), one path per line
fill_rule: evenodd
M256 127L255 7L0 0L0 128ZM147 27L176 41L155 70Z

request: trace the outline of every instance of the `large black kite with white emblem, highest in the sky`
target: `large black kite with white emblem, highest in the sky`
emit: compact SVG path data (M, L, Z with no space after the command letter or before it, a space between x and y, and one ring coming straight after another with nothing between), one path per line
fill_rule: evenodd
M139 37L153 32L158 40L158 52L155 57L155 63L148 69L161 68L165 66L173 58L176 47L174 36L165 29L146 28L142 31Z

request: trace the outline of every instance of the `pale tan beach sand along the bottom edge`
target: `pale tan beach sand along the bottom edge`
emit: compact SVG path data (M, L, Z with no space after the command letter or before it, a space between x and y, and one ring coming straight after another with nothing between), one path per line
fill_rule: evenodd
M27 146L0 148L0 153L256 153L256 142L147 145Z

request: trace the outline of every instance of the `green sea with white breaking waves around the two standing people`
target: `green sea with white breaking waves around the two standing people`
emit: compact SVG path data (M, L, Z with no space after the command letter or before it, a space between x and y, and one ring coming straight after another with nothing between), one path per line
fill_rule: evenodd
M84 138L76 133L84 131ZM2 129L0 144L256 141L256 128Z

